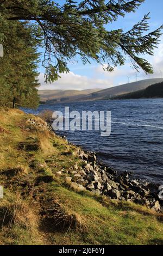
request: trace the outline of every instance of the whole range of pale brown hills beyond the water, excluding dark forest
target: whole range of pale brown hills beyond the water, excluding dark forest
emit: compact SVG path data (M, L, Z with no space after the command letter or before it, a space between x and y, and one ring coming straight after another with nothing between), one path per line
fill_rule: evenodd
M72 101L92 101L110 99L113 96L136 92L146 89L152 84L160 83L163 78L141 80L133 83L122 84L107 89L87 89L87 90L39 90L42 102L72 102Z

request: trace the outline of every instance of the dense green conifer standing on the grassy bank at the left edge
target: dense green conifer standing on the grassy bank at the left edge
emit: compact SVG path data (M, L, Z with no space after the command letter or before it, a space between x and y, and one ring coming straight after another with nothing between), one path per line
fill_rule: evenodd
M0 103L37 107L37 59L39 54L34 38L37 27L29 22L1 22L4 57L0 65ZM39 34L37 34L39 36Z

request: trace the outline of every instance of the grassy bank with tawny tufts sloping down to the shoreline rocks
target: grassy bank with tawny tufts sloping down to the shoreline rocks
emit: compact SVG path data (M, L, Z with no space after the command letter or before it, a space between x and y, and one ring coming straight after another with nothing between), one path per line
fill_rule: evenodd
M0 111L0 244L162 244L162 215L66 182L78 150L39 117Z

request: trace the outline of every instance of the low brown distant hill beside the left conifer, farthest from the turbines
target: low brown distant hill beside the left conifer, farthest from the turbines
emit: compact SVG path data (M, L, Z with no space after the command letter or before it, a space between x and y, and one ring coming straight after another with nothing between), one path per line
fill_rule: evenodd
M75 100L78 96L96 93L101 89L86 89L86 90L39 90L41 101L62 101Z

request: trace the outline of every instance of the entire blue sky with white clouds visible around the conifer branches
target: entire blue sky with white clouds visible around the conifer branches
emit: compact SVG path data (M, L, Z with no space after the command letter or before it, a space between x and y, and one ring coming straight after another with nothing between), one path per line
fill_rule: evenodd
M64 3L65 1L55 1ZM122 28L123 31L128 31L135 23L140 21L145 14L150 12L151 19L149 20L149 31L153 31L163 23L163 1L162 0L146 0L145 3L136 10L136 13L127 14L124 18L120 17L116 22L108 25L108 29ZM160 77L160 70L163 71L163 36L159 44L159 48L155 50L154 56L145 56L151 62L154 69L153 75L146 75L145 72L137 73L139 80L146 78ZM61 78L52 83L45 84L43 77L43 69L40 66L40 89L91 89L91 88L108 88L119 84L133 82L136 80L136 71L130 68L129 60L123 67L117 67L114 72L103 71L102 66L92 62L91 64L83 65L77 58L76 63L68 64L70 74L62 74ZM162 75L163 77L163 75Z

